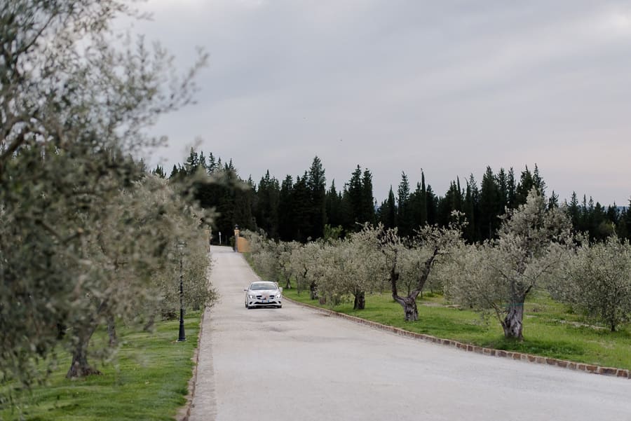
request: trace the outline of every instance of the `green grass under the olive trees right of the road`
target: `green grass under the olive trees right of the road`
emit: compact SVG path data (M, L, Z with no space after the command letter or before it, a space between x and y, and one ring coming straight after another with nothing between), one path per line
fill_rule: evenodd
M310 300L308 291L297 294L296 289L285 289L283 294L301 303L329 308ZM450 307L438 294L426 294L419 298L418 308L419 320L405 322L402 307L393 301L390 294L384 293L367 296L365 310L353 310L352 302L341 303L332 310L482 347L631 369L629 324L611 332L604 326L596 326L580 315L572 314L565 305L541 292L533 294L525 305L522 342L506 340L495 316L482 319L477 312Z

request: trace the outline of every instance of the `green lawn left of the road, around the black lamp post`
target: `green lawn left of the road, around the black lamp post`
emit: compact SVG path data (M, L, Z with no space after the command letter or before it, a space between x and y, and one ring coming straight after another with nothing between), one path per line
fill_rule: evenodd
M186 403L200 312L186 315L186 342L178 343L179 320L158 322L152 333L119 328L121 349L110 362L91 360L103 373L78 380L61 359L48 385L22 396L28 421L169 420ZM0 420L19 420L17 408L0 408Z

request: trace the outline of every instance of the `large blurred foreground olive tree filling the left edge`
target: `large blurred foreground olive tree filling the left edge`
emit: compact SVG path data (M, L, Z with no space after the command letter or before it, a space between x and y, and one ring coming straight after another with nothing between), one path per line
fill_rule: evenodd
M159 46L140 38L115 48L111 22L121 13L131 11L120 0L0 8L0 380L29 385L64 334L85 344L95 315L134 297L104 280L116 272L144 282L144 252L151 261L168 253L149 233L121 234L124 260L100 242L111 227L167 218L156 202L117 221L107 212L133 200L121 192L143 171L129 156L157 143L146 129L158 116L191 100L205 56L177 78ZM90 373L73 366L71 375Z

